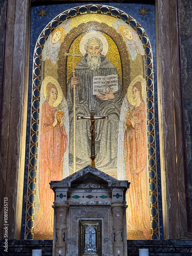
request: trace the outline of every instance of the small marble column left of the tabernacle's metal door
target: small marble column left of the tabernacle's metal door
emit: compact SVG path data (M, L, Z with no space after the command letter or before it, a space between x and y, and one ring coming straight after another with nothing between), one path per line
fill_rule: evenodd
M69 204L54 205L53 256L66 255L67 212Z

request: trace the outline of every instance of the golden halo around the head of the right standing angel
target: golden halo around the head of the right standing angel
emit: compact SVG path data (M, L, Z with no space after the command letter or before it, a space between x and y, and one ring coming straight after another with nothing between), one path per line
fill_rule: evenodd
M146 96L146 80L142 77L142 76L137 76L133 79L133 81L130 83L128 89L127 89L127 99L129 100L130 104L132 104L133 106L136 105L135 100L133 99L133 93L132 93L132 89L133 86L136 82L141 82L141 87L142 87L142 98L145 101L145 96Z

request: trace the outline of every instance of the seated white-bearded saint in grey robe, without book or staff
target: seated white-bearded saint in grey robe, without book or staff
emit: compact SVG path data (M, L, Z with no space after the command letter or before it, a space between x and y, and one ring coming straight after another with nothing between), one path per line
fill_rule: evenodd
M90 32L91 33L91 32ZM97 32L99 33L99 32ZM101 33L99 33L101 34ZM103 36L104 37L104 36ZM107 42L107 41L106 41ZM119 114L123 98L122 84L118 75L118 92L100 92L93 95L93 76L118 74L116 68L102 54L103 44L98 37L90 37L84 45L86 54L75 67L75 77L68 82L68 107L70 118L69 164L73 165L73 87L76 87L76 115L108 116L108 120L98 120L95 125L96 167L115 176L117 173L117 144ZM76 122L76 165L77 170L90 164L91 134L90 122Z

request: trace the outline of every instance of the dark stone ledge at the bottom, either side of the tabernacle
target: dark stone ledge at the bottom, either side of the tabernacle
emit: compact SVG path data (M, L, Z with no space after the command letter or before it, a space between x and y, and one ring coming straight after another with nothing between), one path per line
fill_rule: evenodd
M8 252L4 251L5 240L0 240L2 256L31 256L33 249L42 249L42 256L52 255L53 240L8 240ZM138 256L140 248L147 248L150 256L191 256L191 240L127 240L127 256Z

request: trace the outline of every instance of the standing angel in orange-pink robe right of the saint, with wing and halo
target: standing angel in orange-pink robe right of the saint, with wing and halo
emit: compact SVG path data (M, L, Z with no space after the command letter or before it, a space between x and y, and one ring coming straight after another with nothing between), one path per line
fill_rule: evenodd
M118 145L118 179L131 182L126 198L127 234L129 238L129 233L137 233L138 239L151 238L144 88L146 81L138 76L127 89L121 108Z

